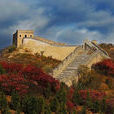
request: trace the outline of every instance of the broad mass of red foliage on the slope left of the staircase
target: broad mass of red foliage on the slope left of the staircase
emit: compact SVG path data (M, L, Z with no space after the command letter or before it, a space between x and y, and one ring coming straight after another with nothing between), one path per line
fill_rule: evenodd
M7 62L0 64L6 71L6 74L0 76L0 85L1 89L7 93L17 91L19 94L25 94L31 84L46 88L49 83L52 89L59 89L59 82L52 76L45 74L40 68Z

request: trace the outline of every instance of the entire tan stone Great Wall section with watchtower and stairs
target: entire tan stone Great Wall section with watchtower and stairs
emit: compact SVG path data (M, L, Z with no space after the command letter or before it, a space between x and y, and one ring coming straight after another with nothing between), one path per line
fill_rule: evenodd
M80 65L91 68L92 64L109 58L96 41L85 40L82 45L67 45L34 36L34 31L30 30L17 30L13 35L13 44L28 49L33 54L42 52L45 56L61 60L50 74L68 86L74 80L78 81L77 69Z

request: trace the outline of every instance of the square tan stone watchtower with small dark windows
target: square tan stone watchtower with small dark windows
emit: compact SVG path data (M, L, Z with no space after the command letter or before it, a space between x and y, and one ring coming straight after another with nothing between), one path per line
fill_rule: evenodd
M23 43L24 38L33 38L34 31L33 30L17 30L13 34L13 45L16 47L20 47Z

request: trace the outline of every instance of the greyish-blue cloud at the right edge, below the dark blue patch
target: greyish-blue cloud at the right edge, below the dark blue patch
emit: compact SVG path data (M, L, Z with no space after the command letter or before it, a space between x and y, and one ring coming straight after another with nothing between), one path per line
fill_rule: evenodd
M114 16L109 11L96 11L88 14L88 20L80 22L85 27L114 27Z

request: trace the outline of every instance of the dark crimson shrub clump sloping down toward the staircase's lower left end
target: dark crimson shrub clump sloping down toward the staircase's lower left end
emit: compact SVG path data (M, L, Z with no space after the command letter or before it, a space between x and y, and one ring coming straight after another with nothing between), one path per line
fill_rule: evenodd
M36 81L42 87L46 88L48 83L50 83L52 88L55 88L56 90L59 89L60 84L57 80L35 66L28 65L23 68L21 73L26 77L26 79Z

